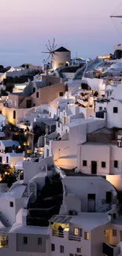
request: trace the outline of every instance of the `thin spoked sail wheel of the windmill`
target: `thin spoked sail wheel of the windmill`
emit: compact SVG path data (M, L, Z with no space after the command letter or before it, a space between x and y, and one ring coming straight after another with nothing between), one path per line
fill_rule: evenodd
M43 54L48 54L48 58L46 58L46 60L44 61L45 63L47 62L52 62L53 66L54 66L54 55L57 55L55 53L55 49L56 49L57 45L55 44L55 39L53 40L53 43L51 45L50 40L48 40L48 44L46 44L46 51L43 51Z

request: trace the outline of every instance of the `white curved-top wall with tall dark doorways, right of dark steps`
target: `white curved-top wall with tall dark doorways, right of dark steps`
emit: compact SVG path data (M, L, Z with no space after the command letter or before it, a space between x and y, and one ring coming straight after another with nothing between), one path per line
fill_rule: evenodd
M87 212L87 195L95 194L95 209L100 210L105 206L106 191L113 191L113 198L116 200L116 190L112 184L102 177L94 176L65 176L63 185L65 186L65 200L68 202L66 205L68 210L76 210L79 207L78 198L81 202L81 212ZM73 205L71 207L71 195L74 196ZM69 199L68 199L69 198Z

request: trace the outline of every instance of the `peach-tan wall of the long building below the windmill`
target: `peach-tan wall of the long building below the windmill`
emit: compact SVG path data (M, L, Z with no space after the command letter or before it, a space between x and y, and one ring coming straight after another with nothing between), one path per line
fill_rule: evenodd
M48 87L39 88L38 92L39 98L36 98L36 92L31 95L33 104L35 104L35 106L49 104L54 98L59 97L60 92L63 92L65 95L65 83L57 83Z

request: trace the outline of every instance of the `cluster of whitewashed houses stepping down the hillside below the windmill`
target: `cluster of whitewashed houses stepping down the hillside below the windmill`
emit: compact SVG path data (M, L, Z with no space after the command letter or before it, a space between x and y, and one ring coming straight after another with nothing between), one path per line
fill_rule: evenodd
M9 191L0 183L0 255L122 255L120 65L107 56L63 67L0 103L32 135L46 124L30 158L1 135L1 163L23 162L24 178Z

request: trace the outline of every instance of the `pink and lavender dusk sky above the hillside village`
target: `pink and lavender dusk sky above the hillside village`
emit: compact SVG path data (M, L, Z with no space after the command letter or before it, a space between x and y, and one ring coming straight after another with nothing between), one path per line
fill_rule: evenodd
M1 0L0 64L42 65L48 39L65 46L72 58L94 58L122 43L120 0ZM120 4L121 2L121 4ZM119 6L120 4L120 6ZM114 21L114 23L113 23ZM117 28L117 29L116 29Z

